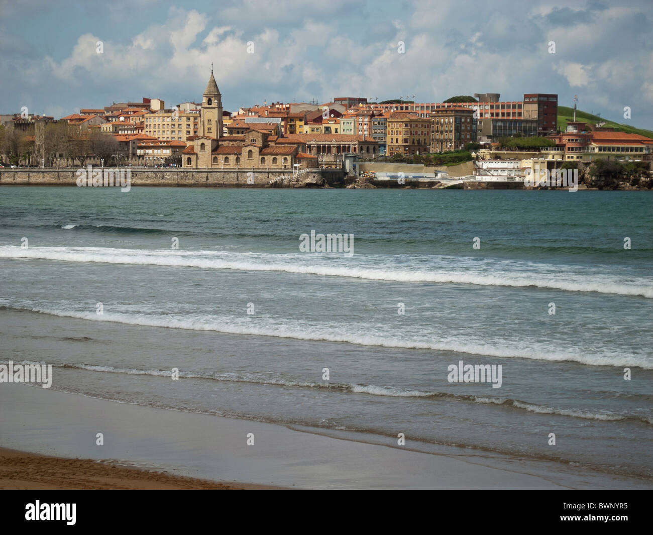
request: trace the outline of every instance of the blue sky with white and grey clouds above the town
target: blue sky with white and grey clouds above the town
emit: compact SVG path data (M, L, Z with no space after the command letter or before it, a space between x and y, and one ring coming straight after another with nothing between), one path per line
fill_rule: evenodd
M211 63L232 112L558 93L653 129L652 0L0 0L2 114L199 102Z

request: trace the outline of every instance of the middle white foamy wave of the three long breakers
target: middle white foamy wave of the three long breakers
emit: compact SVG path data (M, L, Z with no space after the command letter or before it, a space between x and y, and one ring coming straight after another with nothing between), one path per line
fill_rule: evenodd
M576 351L560 351L550 346L537 346L525 348L523 340L516 345L506 344L493 345L486 342L475 341L466 338L436 338L425 340L412 340L410 338L398 338L397 336L378 336L364 332L349 331L343 333L340 329L325 329L319 326L310 326L304 330L289 329L279 325L268 325L257 327L250 321L238 323L234 319L200 319L185 318L176 319L170 316L146 316L137 314L120 314L104 312L96 314L93 310L80 312L78 310L52 310L48 308L35 308L25 306L0 306L0 310L25 310L37 312L50 316L73 317L89 321L108 321L112 323L123 323L126 325L142 325L144 327L164 327L168 329L186 329L189 331L215 331L225 334L245 334L254 336L274 336L276 338L293 338L295 340L317 340L325 342L345 342L359 346L379 346L383 348L403 349L430 349L434 351L451 351L452 353L469 353L471 355L483 355L486 357L498 358L520 358L536 361L572 361L588 366L618 366L618 367L639 367L647 370L653 369L653 361L642 355L624 355L624 353L611 353L604 351L597 353L579 353Z

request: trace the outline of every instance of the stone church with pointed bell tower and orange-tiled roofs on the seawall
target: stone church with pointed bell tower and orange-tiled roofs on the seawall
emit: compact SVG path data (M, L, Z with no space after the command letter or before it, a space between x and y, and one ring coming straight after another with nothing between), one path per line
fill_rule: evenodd
M186 138L182 168L186 169L295 169L317 167L317 157L300 152L301 144L279 138L274 131L255 127L239 135L223 135L222 95L213 69L202 95L197 136Z

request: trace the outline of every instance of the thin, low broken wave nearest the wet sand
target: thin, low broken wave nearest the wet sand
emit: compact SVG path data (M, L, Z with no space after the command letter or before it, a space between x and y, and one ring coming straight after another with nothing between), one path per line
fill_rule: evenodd
M22 361L22 364L41 364L35 361ZM113 374L128 374L128 375L146 375L153 377L172 377L171 370L142 370L138 368L119 368L114 366L104 365L87 365L87 364L57 364L57 368L64 369L77 369L87 370L91 372L105 372ZM180 370L180 378L185 379L202 379L212 381L227 381L233 383L253 383L260 385L271 385L281 387L293 388L310 388L320 389L330 392L341 392L351 394L365 394L381 397L401 397L401 398L440 398L442 400L451 400L456 402L468 402L473 404L495 404L498 406L507 406L518 410L525 410L528 412L538 414L550 414L559 416L568 416L573 418L581 418L586 420L599 420L599 421L639 421L640 423L653 424L653 419L650 417L643 417L639 415L629 415L614 412L592 412L590 410L582 410L578 408L555 408L549 406L538 405L534 403L525 402L522 400L512 398L500 397L483 397L477 395L462 395L448 392L434 392L434 391L420 391L414 389L404 389L392 386L377 386L377 385L364 385L359 383L315 383L311 381L296 381L281 378L274 378L262 374L237 374L233 372L215 374L206 372L185 372Z

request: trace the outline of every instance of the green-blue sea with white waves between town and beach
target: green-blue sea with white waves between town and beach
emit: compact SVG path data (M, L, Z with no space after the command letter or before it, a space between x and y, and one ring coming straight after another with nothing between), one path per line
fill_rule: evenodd
M0 361L89 397L653 481L652 195L0 187ZM302 250L311 232L349 251Z

